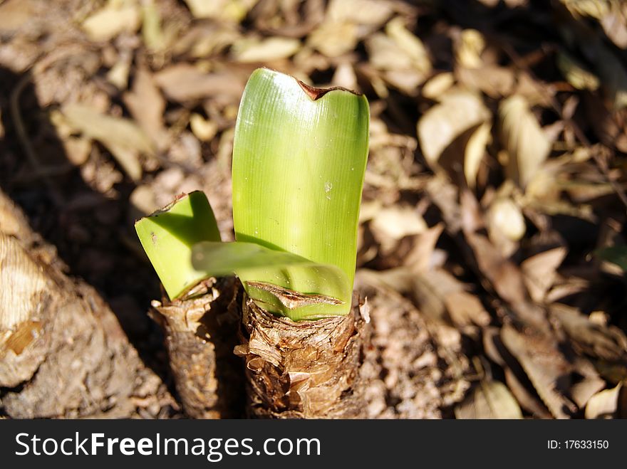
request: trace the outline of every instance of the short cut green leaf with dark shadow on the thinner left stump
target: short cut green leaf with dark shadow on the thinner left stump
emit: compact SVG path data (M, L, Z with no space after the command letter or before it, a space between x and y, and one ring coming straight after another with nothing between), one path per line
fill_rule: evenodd
M135 230L172 300L209 276L192 266L192 246L220 241L213 211L202 191L181 196L170 206L141 218Z

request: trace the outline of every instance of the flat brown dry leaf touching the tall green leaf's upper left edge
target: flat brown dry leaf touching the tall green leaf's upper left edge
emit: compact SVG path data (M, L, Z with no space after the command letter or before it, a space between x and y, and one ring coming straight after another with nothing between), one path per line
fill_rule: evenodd
M232 73L205 73L189 63L177 63L155 74L155 83L168 98L184 102L225 95L239 99L244 83Z

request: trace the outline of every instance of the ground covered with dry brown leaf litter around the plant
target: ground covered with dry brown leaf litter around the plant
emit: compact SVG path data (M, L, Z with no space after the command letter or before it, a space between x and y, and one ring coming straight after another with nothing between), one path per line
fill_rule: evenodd
M0 0L0 188L164 381L130 416L185 416L133 222L233 239L260 66L370 102L371 418L627 417L624 2Z

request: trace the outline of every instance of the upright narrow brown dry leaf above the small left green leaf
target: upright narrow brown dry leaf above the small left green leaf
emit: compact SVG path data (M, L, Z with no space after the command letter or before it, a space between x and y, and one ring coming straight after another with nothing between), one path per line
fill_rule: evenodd
M125 93L123 100L130 115L155 142L157 148L165 149L170 140L163 125L165 100L147 68L138 68L133 80L133 90Z

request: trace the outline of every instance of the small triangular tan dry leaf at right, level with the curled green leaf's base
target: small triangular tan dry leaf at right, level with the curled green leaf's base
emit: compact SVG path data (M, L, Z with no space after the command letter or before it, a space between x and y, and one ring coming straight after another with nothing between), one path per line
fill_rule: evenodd
M549 249L525 259L520 267L524 273L524 283L535 302L542 302L544 295L555 282L556 270L566 257L564 247Z

